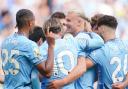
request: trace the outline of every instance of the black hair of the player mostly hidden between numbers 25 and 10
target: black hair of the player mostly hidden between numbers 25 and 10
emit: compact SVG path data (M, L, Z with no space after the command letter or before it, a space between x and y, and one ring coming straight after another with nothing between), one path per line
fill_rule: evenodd
M43 41L46 40L43 29L39 26L35 26L33 29L33 33L29 35L29 39L34 42L38 42L40 38L42 38Z

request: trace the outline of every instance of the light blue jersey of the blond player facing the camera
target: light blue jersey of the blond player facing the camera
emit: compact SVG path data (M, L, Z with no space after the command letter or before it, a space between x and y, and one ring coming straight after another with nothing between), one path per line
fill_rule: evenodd
M90 52L99 48L103 45L103 39L97 35L96 33L87 33L87 32L80 32L76 35L76 39L87 39L88 46L86 49L81 50L78 54L79 56L86 57ZM79 79L76 80L75 87L76 89L94 89L93 84L96 79L96 66L87 70Z

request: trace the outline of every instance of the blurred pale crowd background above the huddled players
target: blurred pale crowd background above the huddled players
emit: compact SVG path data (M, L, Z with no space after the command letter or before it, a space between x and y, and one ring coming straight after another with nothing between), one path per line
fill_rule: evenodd
M69 9L83 10L89 18L96 13L114 15L119 22L117 37L128 40L128 0L0 0L0 45L16 31L15 14L22 8L34 12L39 26L52 13Z

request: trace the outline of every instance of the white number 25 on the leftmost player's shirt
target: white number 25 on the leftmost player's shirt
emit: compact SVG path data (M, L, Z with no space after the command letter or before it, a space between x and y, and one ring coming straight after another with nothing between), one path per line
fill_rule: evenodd
M19 63L16 59L12 58L14 54L19 55L19 51L11 50L11 54L9 56L7 49L2 49L2 55L5 55L5 58L3 59L3 67L5 67L7 63L14 65L13 68L8 68L7 70L4 70L5 75L8 75L9 73L12 75L16 75L19 72Z

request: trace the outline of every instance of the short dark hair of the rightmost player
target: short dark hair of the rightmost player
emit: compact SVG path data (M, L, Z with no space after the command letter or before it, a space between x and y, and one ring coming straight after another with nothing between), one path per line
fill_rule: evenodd
M104 15L97 22L98 27L101 25L106 25L106 26L116 29L118 22L114 16Z

